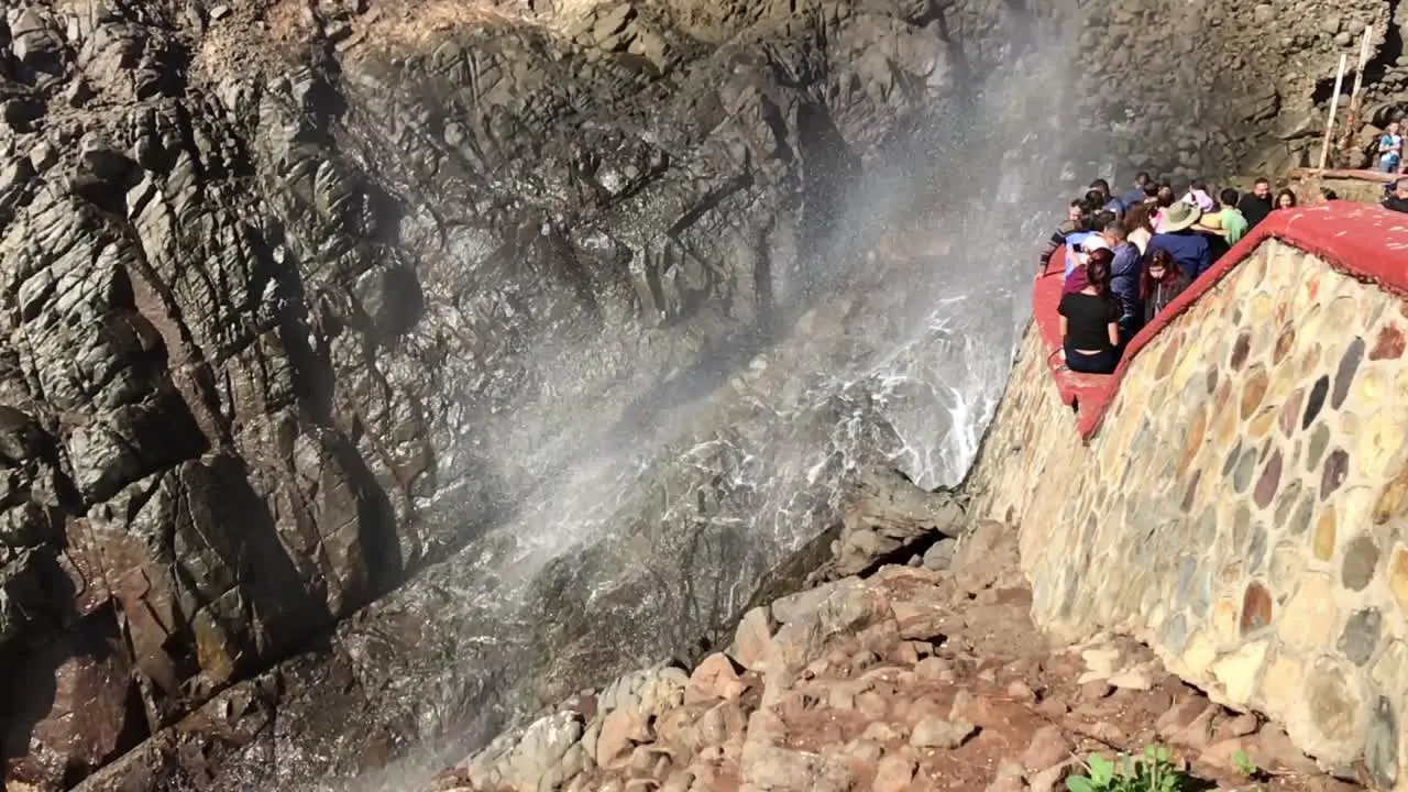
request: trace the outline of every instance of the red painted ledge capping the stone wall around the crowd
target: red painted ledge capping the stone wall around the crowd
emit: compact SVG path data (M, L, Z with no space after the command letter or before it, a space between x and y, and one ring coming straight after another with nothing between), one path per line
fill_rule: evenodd
M1077 412L1076 428L1081 438L1088 441L1100 430L1105 409L1114 400L1133 358L1170 321L1242 264L1257 245L1271 238L1314 254L1350 278L1408 297L1408 214L1349 202L1278 210L1140 330L1129 341L1114 373L1074 373L1062 358L1060 316L1056 306L1060 302L1066 251L1059 249L1032 286L1032 314L1046 345L1046 365L1056 380L1062 403Z

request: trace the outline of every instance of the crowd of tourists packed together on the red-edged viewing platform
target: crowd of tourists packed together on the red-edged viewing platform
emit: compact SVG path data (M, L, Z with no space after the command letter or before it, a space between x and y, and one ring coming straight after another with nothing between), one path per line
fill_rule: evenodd
M1401 147L1401 144L1398 144ZM1385 185L1384 209L1408 213L1408 176ZM1336 200L1332 190L1321 197ZM1066 368L1115 371L1129 340L1273 211L1293 209L1295 193L1273 194L1269 179L1249 193L1214 190L1195 180L1183 194L1149 173L1121 194L1095 179L1070 202L1066 223L1042 249L1052 268L1060 252L1060 334Z

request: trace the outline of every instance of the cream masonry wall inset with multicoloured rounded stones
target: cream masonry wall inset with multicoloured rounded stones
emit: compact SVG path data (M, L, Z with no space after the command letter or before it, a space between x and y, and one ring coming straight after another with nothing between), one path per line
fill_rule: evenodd
M1128 631L1326 768L1408 779L1405 335L1402 299L1267 240L1083 443L1033 326L970 490L1021 524L1038 624Z

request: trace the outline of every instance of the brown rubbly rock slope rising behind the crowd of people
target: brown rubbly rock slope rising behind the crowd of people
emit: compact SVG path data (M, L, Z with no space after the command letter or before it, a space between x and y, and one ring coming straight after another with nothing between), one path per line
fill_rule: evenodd
M1088 8L1079 35L1083 117L1111 132L1122 165L1184 178L1314 165L1339 55L1349 54L1354 69L1366 25L1373 56L1342 163L1367 165L1367 135L1408 113L1408 16L1397 0L1107 0ZM1352 82L1353 72L1346 94ZM1345 109L1342 101L1339 124Z

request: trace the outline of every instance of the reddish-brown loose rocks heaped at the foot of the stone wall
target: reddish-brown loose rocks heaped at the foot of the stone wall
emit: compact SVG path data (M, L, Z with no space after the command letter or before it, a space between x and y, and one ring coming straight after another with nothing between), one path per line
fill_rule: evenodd
M886 567L783 598L691 672L584 692L432 789L1050 792L1086 753L1156 741L1214 781L1236 781L1245 753L1302 774L1291 788L1333 784L1284 731L1211 703L1139 644L1046 645L1015 561L1012 533L984 523L950 571Z

